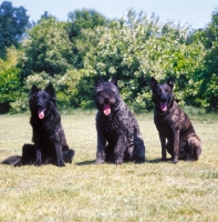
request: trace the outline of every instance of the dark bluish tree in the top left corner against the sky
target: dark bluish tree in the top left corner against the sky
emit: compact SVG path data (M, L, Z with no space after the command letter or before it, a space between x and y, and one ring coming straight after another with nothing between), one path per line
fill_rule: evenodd
M29 23L27 10L15 8L10 1L0 6L0 58L6 57L7 48L18 47Z

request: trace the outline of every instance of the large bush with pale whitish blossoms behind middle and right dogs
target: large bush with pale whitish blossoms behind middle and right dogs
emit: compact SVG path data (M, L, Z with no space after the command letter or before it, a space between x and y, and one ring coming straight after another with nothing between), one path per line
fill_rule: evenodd
M158 80L173 75L176 98L184 102L193 94L195 99L198 82L194 74L203 60L204 47L186 44L188 28L162 26L155 16L148 19L129 11L126 21L114 21L110 29L98 27L84 32L86 41L94 46L85 54L84 68L94 70L93 78L96 73L105 79L116 75L123 99L136 111L153 107L152 75ZM93 85L87 90L91 93Z

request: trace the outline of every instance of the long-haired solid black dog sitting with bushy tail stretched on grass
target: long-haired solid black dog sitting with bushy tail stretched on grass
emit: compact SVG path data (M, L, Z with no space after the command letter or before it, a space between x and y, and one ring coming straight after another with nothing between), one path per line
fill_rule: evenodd
M34 144L24 144L22 157L13 155L1 163L12 165L52 163L58 167L64 167L64 162L71 163L74 151L66 144L61 117L55 107L53 85L50 83L42 91L33 84L29 105Z

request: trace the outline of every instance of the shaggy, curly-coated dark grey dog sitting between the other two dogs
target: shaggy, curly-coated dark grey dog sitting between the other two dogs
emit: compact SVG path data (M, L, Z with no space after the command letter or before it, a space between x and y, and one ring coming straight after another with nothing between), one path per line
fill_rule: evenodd
M95 87L97 153L95 163L145 160L138 123L120 97L117 81L98 79ZM107 143L107 144L106 144Z

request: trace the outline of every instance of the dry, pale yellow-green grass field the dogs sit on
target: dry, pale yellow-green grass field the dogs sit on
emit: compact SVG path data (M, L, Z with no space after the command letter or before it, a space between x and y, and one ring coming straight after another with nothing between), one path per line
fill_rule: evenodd
M198 162L159 162L153 114L136 117L143 164L95 165L95 111L62 114L76 154L65 168L0 165L0 221L218 221L218 114L190 112ZM31 142L29 114L0 115L0 161Z

